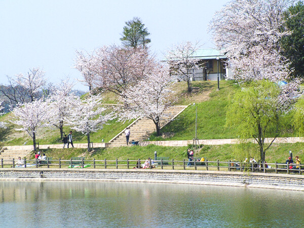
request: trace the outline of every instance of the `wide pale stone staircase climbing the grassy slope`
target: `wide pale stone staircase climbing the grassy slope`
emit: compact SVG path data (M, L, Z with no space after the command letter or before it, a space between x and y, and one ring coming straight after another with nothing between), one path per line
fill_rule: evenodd
M165 125L170 123L175 117L179 115L188 105L180 105L180 106L171 106L165 113L167 115L164 120L161 121L160 126L163 128ZM134 121L131 125L128 126L130 128L130 139L134 141L143 141L149 137L150 134L156 131L155 124L152 120L144 117L139 118ZM109 147L119 147L119 146L127 146L125 130L120 132L117 136L112 138L110 141Z

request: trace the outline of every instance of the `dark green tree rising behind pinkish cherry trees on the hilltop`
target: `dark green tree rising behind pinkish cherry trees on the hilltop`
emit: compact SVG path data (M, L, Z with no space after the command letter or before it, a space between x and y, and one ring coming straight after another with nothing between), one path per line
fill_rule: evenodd
M151 40L147 38L149 34L147 28L144 28L141 19L134 17L132 20L126 22L122 34L123 37L120 40L126 47L136 48L137 46L142 46L145 48L146 45L151 42Z

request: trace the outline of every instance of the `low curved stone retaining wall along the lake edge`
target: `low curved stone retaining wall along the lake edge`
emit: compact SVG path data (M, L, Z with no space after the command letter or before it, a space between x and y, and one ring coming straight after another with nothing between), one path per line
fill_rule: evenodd
M190 170L1 169L0 180L97 180L209 184L304 192L304 176Z

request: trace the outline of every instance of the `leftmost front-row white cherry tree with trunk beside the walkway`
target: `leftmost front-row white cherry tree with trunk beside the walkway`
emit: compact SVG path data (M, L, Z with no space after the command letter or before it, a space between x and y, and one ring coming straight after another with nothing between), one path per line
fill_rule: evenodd
M13 110L15 118L12 123L20 126L17 131L25 131L33 139L33 148L36 150L36 131L46 125L50 115L48 102L43 98L29 103L19 103Z

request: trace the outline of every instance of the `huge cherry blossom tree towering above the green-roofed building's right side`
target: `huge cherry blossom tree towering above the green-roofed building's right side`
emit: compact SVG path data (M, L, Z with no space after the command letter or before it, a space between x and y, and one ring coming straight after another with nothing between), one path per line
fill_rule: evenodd
M292 0L234 0L216 12L210 22L215 45L228 57L250 54L251 48L278 49L283 12Z

